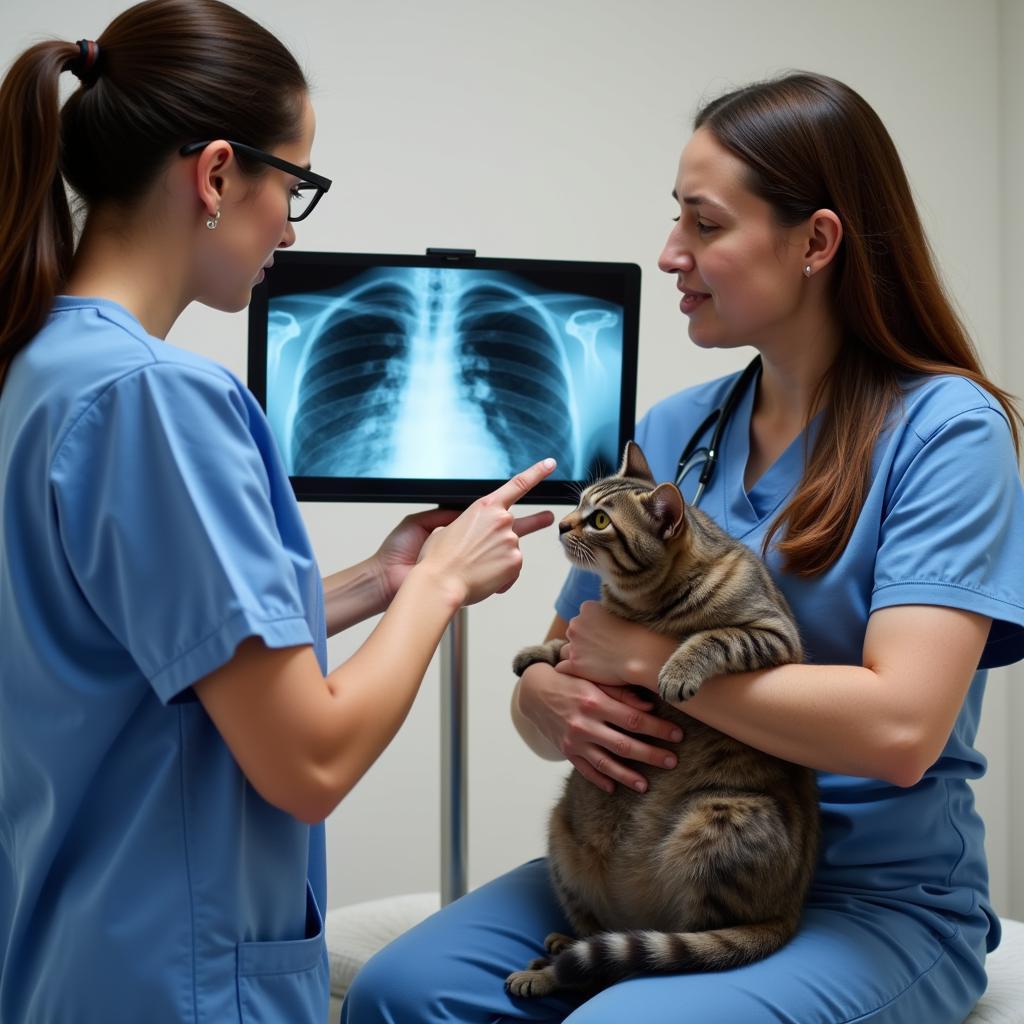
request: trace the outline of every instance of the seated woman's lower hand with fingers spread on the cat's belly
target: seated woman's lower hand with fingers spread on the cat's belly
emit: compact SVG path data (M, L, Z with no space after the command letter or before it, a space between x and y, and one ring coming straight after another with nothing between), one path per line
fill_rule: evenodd
M673 768L676 758L637 735L678 742L671 722L647 713L650 705L622 688L597 686L548 665L531 665L519 683L519 710L589 782L611 793L620 782L643 793L647 780L624 761ZM627 736L620 730L635 735Z

